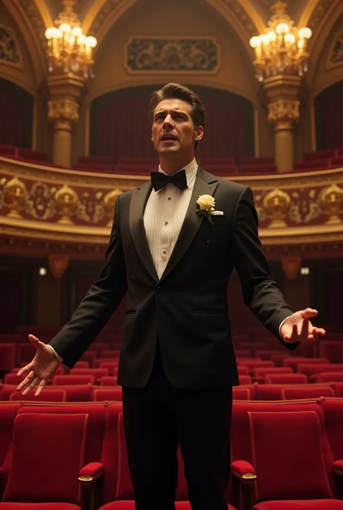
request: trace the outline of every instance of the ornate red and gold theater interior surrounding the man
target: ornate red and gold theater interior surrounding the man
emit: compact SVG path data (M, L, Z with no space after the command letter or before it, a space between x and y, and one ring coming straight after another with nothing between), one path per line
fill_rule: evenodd
M273 278L326 330L287 350L233 273L228 508L343 509L342 0L2 0L0 510L135 508L125 298L39 397L17 372L28 335L50 342L98 278L116 198L157 170L149 100L168 82L200 95L197 162L252 188ZM190 510L178 457L176 509Z

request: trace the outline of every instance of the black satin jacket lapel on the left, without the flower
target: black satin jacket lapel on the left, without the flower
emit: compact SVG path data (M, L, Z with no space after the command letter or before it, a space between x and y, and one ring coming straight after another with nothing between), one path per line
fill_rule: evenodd
M133 244L138 256L150 276L158 282L155 264L151 256L148 240L144 228L144 208L152 189L151 182L144 184L141 188L134 190L130 203L129 225Z

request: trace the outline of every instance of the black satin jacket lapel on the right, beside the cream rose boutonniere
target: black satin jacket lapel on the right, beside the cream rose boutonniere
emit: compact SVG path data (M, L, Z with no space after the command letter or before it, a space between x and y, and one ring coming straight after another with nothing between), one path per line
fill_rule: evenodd
M180 230L179 237L175 247L171 252L168 263L161 276L161 280L177 265L185 252L191 245L197 234L202 221L208 221L204 216L197 214L197 200L199 195L213 195L218 181L213 175L198 167L197 177L195 177L194 188L190 197L189 206L186 212L184 222Z

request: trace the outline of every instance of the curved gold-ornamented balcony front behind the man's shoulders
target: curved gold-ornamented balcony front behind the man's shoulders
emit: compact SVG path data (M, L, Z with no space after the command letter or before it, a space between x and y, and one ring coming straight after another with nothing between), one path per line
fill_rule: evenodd
M39 246L39 253L66 250L74 258L101 258L116 197L149 179L0 158L0 251L16 253L24 246L29 253ZM322 256L318 246L331 246L330 256L337 256L334 246L343 245L343 168L225 179L253 189L259 234L270 257L284 256L292 246L305 251L312 246L311 256Z

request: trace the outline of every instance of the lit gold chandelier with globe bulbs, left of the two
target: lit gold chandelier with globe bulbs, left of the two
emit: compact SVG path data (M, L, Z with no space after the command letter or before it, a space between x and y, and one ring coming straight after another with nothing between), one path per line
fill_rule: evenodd
M80 20L73 7L77 0L62 0L55 26L46 29L48 40L47 59L49 72L72 72L82 74L85 79L93 78L92 58L96 46L95 37L86 37L80 27Z

